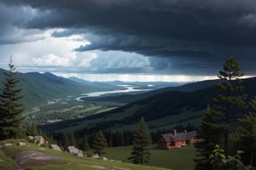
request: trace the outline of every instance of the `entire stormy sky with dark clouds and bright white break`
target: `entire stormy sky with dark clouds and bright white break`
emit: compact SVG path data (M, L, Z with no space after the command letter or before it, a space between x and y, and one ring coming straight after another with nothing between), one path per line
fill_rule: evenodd
M107 81L256 74L255 0L0 0L0 67Z

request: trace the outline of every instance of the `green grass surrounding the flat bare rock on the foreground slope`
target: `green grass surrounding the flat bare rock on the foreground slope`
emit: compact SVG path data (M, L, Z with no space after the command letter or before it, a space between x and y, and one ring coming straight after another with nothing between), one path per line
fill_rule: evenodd
M45 154L49 154L51 156L59 156L61 157L61 160L53 160L50 161L51 165L41 166L41 167L30 167L28 169L33 170L46 170L46 169L100 169L99 167L105 167L107 169L125 169L130 168L132 170L164 170L166 168L161 167L148 167L148 166L140 166L140 165L134 165L131 163L121 163L118 161L102 161L102 160L96 160L92 158L87 157L77 157L73 156L71 154L68 154L66 152L60 152L57 150L39 150L42 147L39 147L35 144L28 144L27 146L8 146L5 147L3 150L8 151L9 153L16 153L20 150L36 150ZM15 161L12 161L8 157L4 156L3 154L0 154L0 159L3 161L0 161L0 169L1 167L15 167L16 163ZM7 160L7 161L6 161ZM7 166L8 165L8 166Z

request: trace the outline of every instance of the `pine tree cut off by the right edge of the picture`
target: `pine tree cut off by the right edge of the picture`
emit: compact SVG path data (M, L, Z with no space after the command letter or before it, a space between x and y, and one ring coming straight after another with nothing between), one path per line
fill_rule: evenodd
M242 145L246 146L244 150L249 153L249 163L253 166L253 160L256 157L256 97L250 102L250 106L253 111L250 111L248 115L238 119L242 123L242 127L238 127L236 133L241 139Z

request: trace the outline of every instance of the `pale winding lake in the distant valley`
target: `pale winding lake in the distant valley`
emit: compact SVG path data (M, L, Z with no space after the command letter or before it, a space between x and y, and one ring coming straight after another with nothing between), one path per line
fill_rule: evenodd
M99 92L91 92L89 94L81 94L77 100L81 100L81 98L84 97L100 97L103 94L121 94L121 93L130 93L130 92L143 92L143 91L150 91L152 89L147 88L147 89L141 89L137 86L131 86L131 85L118 85L120 87L123 87L125 89L123 90L112 90L112 91L99 91Z

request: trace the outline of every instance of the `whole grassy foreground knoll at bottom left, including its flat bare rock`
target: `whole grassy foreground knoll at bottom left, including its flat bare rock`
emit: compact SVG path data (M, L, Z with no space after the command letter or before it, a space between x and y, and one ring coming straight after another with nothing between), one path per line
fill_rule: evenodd
M19 142L24 145L19 146ZM9 145L5 146L4 144ZM73 154L66 151L52 150L48 147L29 143L25 139L3 140L0 142L0 146L0 169L2 170L170 170L170 168L155 167L156 165L152 164L136 165L120 160L102 160L85 156L73 156ZM155 157L160 157L161 153L154 152L154 155L156 155ZM157 161L157 159L155 160ZM157 164L157 166L160 165ZM189 167L192 167L191 163Z

